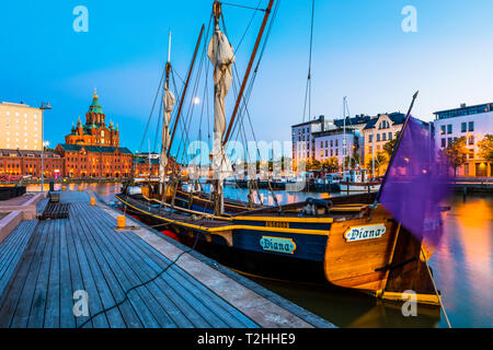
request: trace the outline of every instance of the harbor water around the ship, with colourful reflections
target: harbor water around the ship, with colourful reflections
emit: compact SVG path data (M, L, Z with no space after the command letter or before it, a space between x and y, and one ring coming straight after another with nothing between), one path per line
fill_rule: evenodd
M106 201L115 201L114 194L121 188L121 184L73 184L66 189L78 190L79 186L95 190ZM30 185L27 190L39 190L39 185ZM227 187L225 192L233 199L246 198L238 188ZM268 191L261 194L266 203L274 203ZM276 191L276 197L286 203L328 195ZM429 260L445 310L452 327L493 327L493 196L457 195L447 205L445 233ZM251 278L340 327L447 327L436 307L420 306L417 316L405 317L401 304L354 291Z

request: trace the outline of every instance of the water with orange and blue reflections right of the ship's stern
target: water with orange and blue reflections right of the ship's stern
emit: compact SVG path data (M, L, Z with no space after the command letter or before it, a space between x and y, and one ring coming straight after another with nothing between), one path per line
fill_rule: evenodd
M457 196L450 206L431 259L435 280L452 326L493 327L493 197Z

